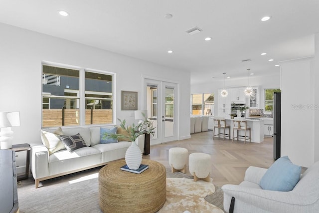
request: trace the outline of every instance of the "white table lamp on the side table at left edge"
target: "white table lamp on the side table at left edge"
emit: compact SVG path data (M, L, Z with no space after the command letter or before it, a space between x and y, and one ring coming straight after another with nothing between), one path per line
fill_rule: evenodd
M11 127L20 126L20 112L0 112L0 149L12 147L13 131Z

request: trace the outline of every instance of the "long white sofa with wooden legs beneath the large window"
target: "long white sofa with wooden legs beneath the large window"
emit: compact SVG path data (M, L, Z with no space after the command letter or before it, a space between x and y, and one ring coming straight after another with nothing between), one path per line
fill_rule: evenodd
M111 127L104 128L109 129ZM57 142L56 144L53 142L55 150L58 151L54 151L48 147L48 145L45 144L47 142L43 142L42 144L39 141L38 144L31 144L30 169L35 180L35 188L38 188L40 181L103 166L111 161L125 158L126 150L131 146L131 142L120 140L117 143L101 144L100 127L42 130L42 141L44 140L43 137L46 140L59 140L58 136L55 137L55 134L52 134L53 132L58 132L59 135L76 135L79 133L83 138L86 147L69 152L65 149L63 144L61 145L62 142ZM46 134L44 135L43 133ZM123 134L123 132L119 134ZM144 135L141 135L136 143L143 153Z

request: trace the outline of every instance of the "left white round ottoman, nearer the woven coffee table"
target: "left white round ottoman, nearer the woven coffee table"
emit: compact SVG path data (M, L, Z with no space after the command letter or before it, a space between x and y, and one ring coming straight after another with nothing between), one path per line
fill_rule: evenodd
M171 172L185 173L187 164L188 150L181 147L174 147L168 150L168 164L171 167Z

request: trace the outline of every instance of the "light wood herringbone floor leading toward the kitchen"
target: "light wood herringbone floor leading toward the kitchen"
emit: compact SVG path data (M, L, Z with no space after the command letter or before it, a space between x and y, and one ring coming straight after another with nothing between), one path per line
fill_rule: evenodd
M214 138L213 132L192 134L190 139L174 141L151 146L150 155L143 156L168 165L168 150L172 147L186 148L190 153L202 152L211 155L212 172L210 177L217 186L225 184L239 184L244 180L245 171L249 166L269 168L273 159L273 138L264 138L262 143L244 144L243 141L232 142L229 139ZM188 175L188 164L186 167Z

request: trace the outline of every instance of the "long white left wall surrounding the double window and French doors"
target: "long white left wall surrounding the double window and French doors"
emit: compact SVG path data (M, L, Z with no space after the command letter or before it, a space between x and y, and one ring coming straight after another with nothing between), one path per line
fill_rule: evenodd
M128 123L134 118L132 111L121 111L121 90L138 91L141 109L142 76L177 82L178 139L190 137L188 72L2 23L0 32L0 111L20 111L20 126L12 128L13 144L40 143L42 61L117 73L116 118Z

